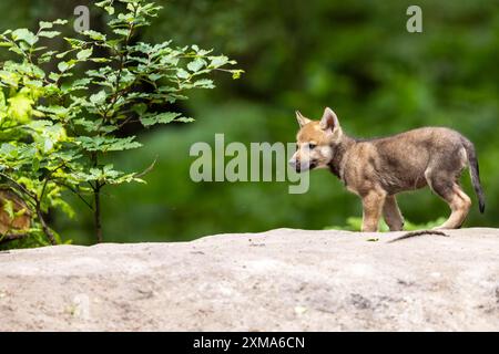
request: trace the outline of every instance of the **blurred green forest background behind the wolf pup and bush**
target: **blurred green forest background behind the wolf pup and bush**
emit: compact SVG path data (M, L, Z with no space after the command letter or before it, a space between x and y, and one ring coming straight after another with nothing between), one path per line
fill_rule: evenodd
M189 149L195 142L294 142L294 111L318 118L333 107L344 129L359 137L425 125L452 127L477 146L485 215L475 202L467 227L498 227L499 1L170 0L138 40L174 40L214 48L246 71L217 88L172 107L196 118L136 134L144 147L116 166L141 170L154 158L147 185L106 189L106 241L190 240L221 232L273 228L323 229L360 216L358 198L328 171L312 174L310 189L289 195L287 183L193 183ZM41 19L72 19L81 0L2 0L0 29L34 28ZM422 9L422 33L406 31L406 9ZM105 21L92 17L91 27ZM476 201L464 176L465 188ZM406 194L407 219L425 223L448 214L429 189ZM92 219L78 200L74 220L51 216L75 243L92 243Z

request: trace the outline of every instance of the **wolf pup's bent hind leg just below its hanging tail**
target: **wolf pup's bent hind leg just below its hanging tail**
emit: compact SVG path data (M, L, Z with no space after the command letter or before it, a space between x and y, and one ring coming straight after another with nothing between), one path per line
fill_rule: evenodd
M427 179L431 189L447 201L451 210L447 221L436 229L459 229L468 216L471 199L457 183L447 176L431 176Z

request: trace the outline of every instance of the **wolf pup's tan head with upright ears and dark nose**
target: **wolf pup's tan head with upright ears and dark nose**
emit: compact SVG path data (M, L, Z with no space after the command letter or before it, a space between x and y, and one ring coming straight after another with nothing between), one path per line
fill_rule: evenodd
M299 131L296 136L296 153L289 165L296 171L327 167L334 156L334 145L343 136L339 121L332 108L324 110L320 121L312 121L296 112Z

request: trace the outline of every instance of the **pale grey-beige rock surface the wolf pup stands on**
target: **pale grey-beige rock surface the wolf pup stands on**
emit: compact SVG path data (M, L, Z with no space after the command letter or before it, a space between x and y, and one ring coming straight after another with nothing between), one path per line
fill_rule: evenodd
M0 331L499 331L499 230L400 235L2 252Z

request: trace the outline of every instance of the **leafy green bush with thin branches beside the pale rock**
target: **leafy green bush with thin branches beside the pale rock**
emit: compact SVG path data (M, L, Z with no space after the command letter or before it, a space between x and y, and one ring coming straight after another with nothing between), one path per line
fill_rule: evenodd
M234 61L197 45L134 40L157 17L161 7L153 2L105 0L95 7L106 13L108 32L64 38L64 49L52 43L62 37L59 28L65 20L0 35L0 45L17 55L0 67L0 183L27 202L34 219L30 229L9 229L10 238L23 232L44 243L43 232L51 243L60 242L45 215L54 207L74 215L63 198L70 191L92 210L95 237L102 241L103 188L142 183L154 165L150 162L142 173L115 168L115 152L142 146L124 127L192 122L170 112L171 105L186 100L191 90L213 88L208 75L215 71L233 79L242 73L227 69ZM3 206L8 212L8 200Z

